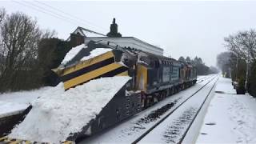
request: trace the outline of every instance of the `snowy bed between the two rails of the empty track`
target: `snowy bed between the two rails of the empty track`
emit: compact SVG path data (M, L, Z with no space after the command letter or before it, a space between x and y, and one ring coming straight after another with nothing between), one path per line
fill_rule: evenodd
M138 143L179 143L216 81L217 78L214 78Z

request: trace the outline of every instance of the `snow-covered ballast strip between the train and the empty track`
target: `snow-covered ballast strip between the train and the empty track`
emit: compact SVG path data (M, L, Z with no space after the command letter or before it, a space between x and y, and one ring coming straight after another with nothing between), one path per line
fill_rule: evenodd
M137 136L148 130L149 127L154 125L170 110L174 110L183 101L185 101L191 94L196 91L202 90L206 83L209 83L214 79L216 75L209 75L199 80L195 86L182 90L178 94L174 94L164 101L158 102L156 105L151 106L149 109L143 110L141 113L134 115L134 117L127 119L125 122L121 122L116 126L102 131L102 133L91 136L90 138L83 139L78 143L101 143L101 142L134 142ZM167 109L166 109L167 107ZM162 112L164 110L164 112ZM160 113L160 114L159 114ZM153 116L153 118L152 118ZM156 118L155 118L156 117Z

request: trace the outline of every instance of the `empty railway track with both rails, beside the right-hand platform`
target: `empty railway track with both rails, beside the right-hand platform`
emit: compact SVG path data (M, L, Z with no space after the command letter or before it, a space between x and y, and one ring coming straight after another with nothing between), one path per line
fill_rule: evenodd
M159 142L157 140L158 137L162 137L162 139L164 139L162 141L164 141L166 143L182 143L183 139L186 137L186 134L187 134L188 130L190 130L190 126L192 125L192 123L194 122L198 113L202 109L202 106L205 104L206 99L209 97L211 91L214 89L215 83L217 81L218 81L218 79L216 77L211 78L211 80L209 82L207 82L199 90L194 92L194 94L191 94L190 97L186 98L185 101L183 101L177 107L175 107L173 110L171 110L169 112L169 114L166 114L165 117L163 117L160 121L155 123L154 126L151 126L150 129L146 130L145 133L143 133L138 138L136 138L134 140L134 142L132 142L132 143L152 142L152 137L153 136L154 136L154 142ZM190 101L191 98L194 98L194 96L198 96L198 93L201 92L210 83L212 83L212 86L207 88L207 90L208 89L210 89L210 90L209 91L206 90L205 98L202 98L202 103L201 103L200 106L198 106L198 108L194 108L193 106L191 106L189 109L184 110L183 113L181 113L181 115L179 117L177 117L176 119L173 119L173 123L171 123L172 121L166 122L167 118L172 117L172 114L174 114L178 110L182 109L180 107L186 105L186 102ZM182 110L180 110L180 111L182 111ZM160 126L161 124L164 125L163 122L171 123L169 125L170 126L169 130L166 130L166 128L158 128L158 127L161 127ZM183 125L186 125L185 126L186 128L184 130L179 130L181 127L184 128ZM164 125L164 126L166 126L166 125ZM162 129L162 130L156 130L156 129ZM154 132L154 131L157 131L157 132ZM164 132L162 132L162 135L158 135L159 131L164 131ZM160 143L161 143L161 141L160 141Z

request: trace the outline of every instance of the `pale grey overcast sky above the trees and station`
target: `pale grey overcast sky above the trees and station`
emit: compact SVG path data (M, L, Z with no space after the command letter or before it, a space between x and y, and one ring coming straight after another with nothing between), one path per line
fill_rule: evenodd
M17 0L0 1L0 6L5 7L7 13L19 10L37 18L41 28L56 30L58 37L63 39L68 38L77 26L106 34L112 18L116 18L122 36L133 36L160 46L164 49L164 54L172 58L198 56L208 66L215 66L217 54L226 50L223 46L224 37L238 30L255 29L256 26L256 2L252 1L22 2ZM66 14L59 10L65 11Z

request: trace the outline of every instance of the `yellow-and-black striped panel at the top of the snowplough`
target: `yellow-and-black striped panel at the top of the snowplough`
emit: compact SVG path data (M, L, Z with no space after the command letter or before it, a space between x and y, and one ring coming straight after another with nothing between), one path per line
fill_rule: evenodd
M74 66L52 70L61 78L65 90L68 90L92 79L128 75L128 68L114 59L113 51L109 51Z

